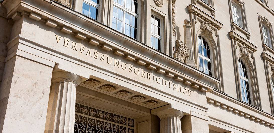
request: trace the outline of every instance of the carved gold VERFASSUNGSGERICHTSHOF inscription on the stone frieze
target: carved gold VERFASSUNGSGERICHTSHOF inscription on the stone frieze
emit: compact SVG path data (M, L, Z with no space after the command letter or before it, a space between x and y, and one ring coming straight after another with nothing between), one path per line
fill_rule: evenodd
M59 37L58 35L55 35L55 37L58 45L62 45L64 46L64 48L69 48L73 51L78 51L98 61L105 62L106 65L113 65L114 67L124 71L123 73L134 74L135 76L139 76L141 78L144 78L145 80L149 80L154 84L162 85L166 87L167 89L172 89L178 93L183 93L189 96L191 94L191 91L188 88L184 88L180 84L174 84L172 83L172 81L167 81L162 77L157 77L153 73L146 72L141 68L135 68L131 64L127 64L122 62L121 60L109 57L107 54L102 54L96 51L95 49L87 48L83 46L82 44L77 44L66 38ZM112 91L112 89L108 89L106 91Z

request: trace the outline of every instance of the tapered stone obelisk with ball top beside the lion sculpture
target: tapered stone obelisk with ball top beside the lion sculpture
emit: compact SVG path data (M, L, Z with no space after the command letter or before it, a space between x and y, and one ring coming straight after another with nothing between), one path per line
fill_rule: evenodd
M184 29L185 29L185 44L187 45L187 52L189 53L189 57L185 59L185 63L190 65L191 67L196 68L196 64L194 62L194 54L193 54L193 46L192 46L192 37L191 37L191 25L190 20L184 20Z

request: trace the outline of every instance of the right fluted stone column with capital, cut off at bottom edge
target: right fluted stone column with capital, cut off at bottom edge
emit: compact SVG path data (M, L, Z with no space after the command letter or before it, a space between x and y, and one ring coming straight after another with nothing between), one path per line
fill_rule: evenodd
M184 112L167 109L157 112L160 121L160 133L182 133L181 118Z

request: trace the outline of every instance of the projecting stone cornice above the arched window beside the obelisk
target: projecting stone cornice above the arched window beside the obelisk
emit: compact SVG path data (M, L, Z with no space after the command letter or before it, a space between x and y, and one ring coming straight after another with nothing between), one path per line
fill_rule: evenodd
M195 15L202 18L204 21L209 22L213 27L216 27L218 30L222 29L222 25L219 21L215 20L211 16L209 16L207 13L203 12L199 8L197 8L195 5L190 4L187 6L189 12L193 12Z

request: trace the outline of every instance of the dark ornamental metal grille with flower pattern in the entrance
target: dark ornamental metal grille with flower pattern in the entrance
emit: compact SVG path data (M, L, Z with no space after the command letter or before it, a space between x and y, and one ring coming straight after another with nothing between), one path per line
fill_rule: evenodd
M74 133L134 133L134 119L76 103Z

